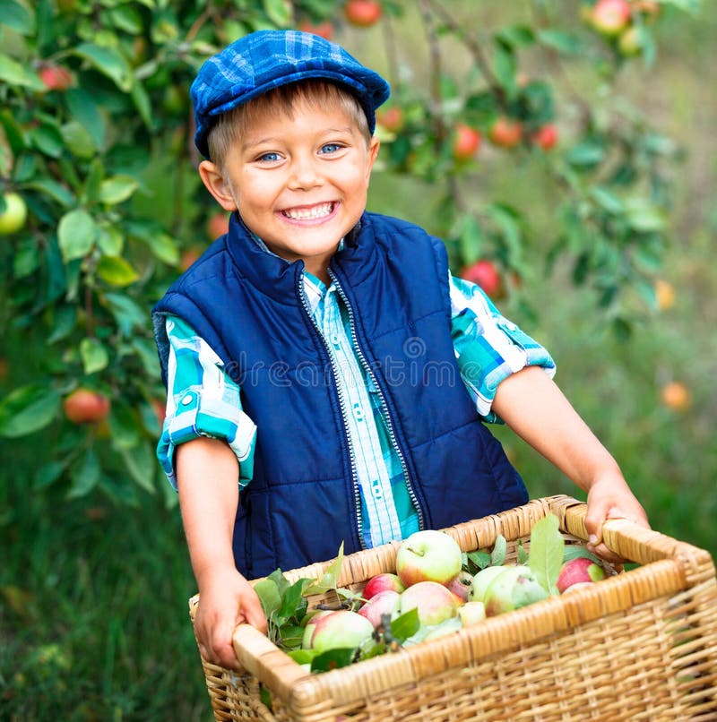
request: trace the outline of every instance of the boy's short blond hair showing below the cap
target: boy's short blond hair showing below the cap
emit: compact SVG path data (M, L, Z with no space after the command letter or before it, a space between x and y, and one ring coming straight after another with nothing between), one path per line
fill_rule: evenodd
M324 112L340 108L353 119L358 131L366 138L367 144L371 141L366 113L358 99L333 82L320 79L307 80L280 85L222 113L207 136L210 159L223 171L229 150L246 133L246 129L257 117L271 113L293 118L299 102L305 102L308 107Z

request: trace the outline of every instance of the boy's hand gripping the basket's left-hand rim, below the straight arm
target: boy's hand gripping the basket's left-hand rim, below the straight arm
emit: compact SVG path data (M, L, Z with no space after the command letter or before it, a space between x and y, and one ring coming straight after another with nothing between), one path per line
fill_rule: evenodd
M231 638L238 624L249 623L266 633L266 618L259 597L236 569L212 572L199 589L194 632L202 656L212 664L236 669Z

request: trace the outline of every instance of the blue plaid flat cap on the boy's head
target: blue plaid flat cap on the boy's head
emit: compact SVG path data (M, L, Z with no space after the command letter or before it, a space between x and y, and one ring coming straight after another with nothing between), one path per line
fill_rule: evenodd
M324 78L350 90L374 132L376 107L390 92L378 73L318 35L298 30L257 30L235 40L199 69L190 89L197 149L209 158L207 135L222 113L267 90L309 78Z

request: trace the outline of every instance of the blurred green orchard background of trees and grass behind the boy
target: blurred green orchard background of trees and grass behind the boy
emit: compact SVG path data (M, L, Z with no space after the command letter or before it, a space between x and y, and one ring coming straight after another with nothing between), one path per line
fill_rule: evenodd
M226 226L188 84L258 28L391 81L369 210L444 238L549 348L653 528L714 554L717 10L598 6L0 2L0 718L212 718L149 310ZM492 430L532 497L583 498Z

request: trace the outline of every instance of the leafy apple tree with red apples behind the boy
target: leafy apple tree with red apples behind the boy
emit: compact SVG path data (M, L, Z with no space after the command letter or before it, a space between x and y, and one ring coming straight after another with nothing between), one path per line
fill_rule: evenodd
M655 303L678 149L616 89L695 2L0 0L0 435L38 447L33 488L117 503L166 489L151 305L227 222L194 171L188 88L207 56L299 27L387 58L382 172L437 189L429 230L454 270L523 294L538 209L473 189L537 168L559 198L549 257L626 332Z

